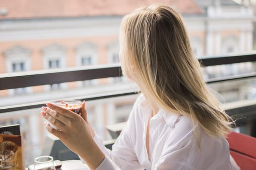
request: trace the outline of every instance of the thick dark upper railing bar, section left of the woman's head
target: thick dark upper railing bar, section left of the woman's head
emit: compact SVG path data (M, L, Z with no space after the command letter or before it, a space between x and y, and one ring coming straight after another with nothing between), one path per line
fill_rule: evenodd
M107 67L91 67L86 69L58 68L54 70L7 73L0 74L0 90L118 77L121 76L121 74L119 64Z

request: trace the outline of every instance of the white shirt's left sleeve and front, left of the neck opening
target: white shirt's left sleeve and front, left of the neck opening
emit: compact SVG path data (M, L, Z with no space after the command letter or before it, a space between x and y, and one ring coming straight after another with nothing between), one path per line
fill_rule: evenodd
M130 134L135 133L134 119L137 104L138 99L129 115L125 128L121 131L115 144L112 146L112 151L107 149L100 137L95 134L94 141L106 155L96 170L143 170L134 152L132 138L130 136Z

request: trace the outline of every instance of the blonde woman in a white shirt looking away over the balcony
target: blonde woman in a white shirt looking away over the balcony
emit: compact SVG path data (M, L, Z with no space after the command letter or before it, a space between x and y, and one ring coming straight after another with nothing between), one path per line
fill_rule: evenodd
M123 74L141 90L127 126L110 151L87 120L51 103L46 129L91 170L238 170L225 135L230 117L204 83L182 17L153 4L122 19Z

